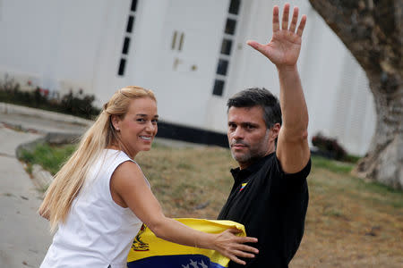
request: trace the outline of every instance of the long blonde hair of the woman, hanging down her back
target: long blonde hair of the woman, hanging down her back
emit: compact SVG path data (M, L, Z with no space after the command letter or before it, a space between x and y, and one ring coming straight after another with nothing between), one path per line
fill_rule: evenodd
M116 91L103 106L94 124L82 136L76 151L56 173L39 207L39 213L47 216L51 231L56 230L58 222L65 222L74 197L78 195L87 173L103 149L110 145L124 146L112 125L111 116L123 118L130 101L141 97L150 97L156 101L154 93L148 89L129 86Z

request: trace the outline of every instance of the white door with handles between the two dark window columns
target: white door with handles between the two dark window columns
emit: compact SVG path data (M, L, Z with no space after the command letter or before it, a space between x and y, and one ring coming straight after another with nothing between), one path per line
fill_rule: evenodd
M164 121L203 128L227 15L227 0L171 0L157 66Z

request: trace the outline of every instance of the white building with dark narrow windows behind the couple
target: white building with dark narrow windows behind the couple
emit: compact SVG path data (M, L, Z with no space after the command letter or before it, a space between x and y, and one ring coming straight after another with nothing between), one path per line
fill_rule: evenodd
M244 88L279 94L274 66L245 45L269 41L272 0L0 0L0 79L61 94L82 88L101 105L126 85L152 89L159 135L223 143L226 102ZM309 133L363 155L373 136L364 71L308 0L298 62Z

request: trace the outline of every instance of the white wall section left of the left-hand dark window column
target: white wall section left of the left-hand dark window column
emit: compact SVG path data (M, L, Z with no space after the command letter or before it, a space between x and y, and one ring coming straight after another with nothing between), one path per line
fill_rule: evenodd
M4 1L1 70L29 74L44 88L91 92L108 2Z

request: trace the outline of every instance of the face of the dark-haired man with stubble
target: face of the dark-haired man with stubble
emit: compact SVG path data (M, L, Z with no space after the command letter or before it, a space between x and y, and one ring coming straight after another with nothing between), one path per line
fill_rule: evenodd
M227 116L231 155L241 169L274 150L274 141L270 141L270 130L266 128L261 106L233 106L229 108Z

